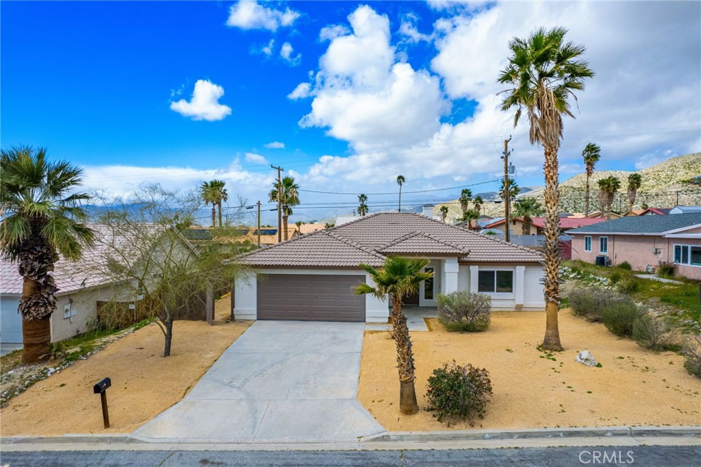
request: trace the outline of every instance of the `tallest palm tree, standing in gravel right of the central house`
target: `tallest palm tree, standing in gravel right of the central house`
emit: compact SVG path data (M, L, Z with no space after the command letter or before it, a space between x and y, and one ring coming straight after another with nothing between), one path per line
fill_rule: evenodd
M586 78L594 76L589 63L582 60L585 47L564 42L567 29L557 27L537 29L527 39L509 42L509 64L498 81L512 86L501 108L516 108L514 126L523 109L530 123L531 144L543 145L545 154L545 338L543 348L562 350L557 312L560 304L559 287L559 188L557 181L557 151L562 140L563 116L574 115L569 99L584 89Z

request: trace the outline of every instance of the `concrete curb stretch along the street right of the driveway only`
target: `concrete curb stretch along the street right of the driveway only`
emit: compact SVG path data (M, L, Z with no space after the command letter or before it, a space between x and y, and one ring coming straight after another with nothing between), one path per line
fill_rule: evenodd
M536 438L611 438L618 436L701 436L701 426L603 426L584 428L526 428L515 430L395 431L364 442L379 441L469 441Z

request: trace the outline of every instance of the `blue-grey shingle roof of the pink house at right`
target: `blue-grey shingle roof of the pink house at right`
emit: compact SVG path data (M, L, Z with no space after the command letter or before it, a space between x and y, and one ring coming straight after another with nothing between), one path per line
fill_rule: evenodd
M657 216L632 216L567 231L568 234L655 235L701 224L701 212Z

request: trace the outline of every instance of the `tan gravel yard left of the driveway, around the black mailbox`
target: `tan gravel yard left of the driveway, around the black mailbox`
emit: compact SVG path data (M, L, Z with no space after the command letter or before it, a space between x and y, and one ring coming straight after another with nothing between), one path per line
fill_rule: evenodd
M0 434L64 435L128 433L175 404L252 322L225 323L229 298L215 307L214 326L176 321L171 354L163 355L163 333L151 324L102 351L39 381L10 400L0 413ZM100 395L93 385L110 377L110 428L102 425Z

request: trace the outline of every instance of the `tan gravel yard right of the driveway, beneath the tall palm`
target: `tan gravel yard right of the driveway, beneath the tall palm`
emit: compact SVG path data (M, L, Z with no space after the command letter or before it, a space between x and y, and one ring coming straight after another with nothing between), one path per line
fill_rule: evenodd
M411 333L421 410L409 416L399 412L394 342L387 332L365 334L358 399L388 431L449 429L423 409L428 377L451 360L491 375L494 397L475 428L701 424L701 381L687 374L681 356L618 339L569 310L559 317L566 350L554 353L557 361L540 358L545 354L537 348L545 313L492 313L491 327L482 333L446 332L435 319L428 324L431 332ZM591 351L603 367L576 363L580 350Z

